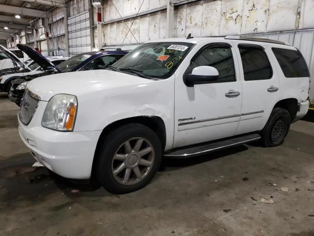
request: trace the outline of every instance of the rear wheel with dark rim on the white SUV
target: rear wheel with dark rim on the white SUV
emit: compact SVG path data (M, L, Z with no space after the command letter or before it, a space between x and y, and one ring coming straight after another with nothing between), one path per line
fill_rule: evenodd
M281 107L275 107L262 130L262 145L264 147L282 145L288 134L290 123L291 118L288 111Z

